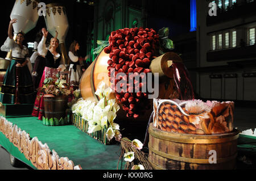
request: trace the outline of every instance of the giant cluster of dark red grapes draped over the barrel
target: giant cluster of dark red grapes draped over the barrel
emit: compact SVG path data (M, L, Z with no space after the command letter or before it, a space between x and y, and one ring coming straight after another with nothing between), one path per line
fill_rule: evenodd
M141 90L147 82L143 82L144 79L141 78L139 86L135 86L138 82L134 75L151 72L149 66L158 44L159 36L152 28L124 28L111 32L109 36L109 46L104 48L110 58L108 75L112 83L111 88L115 90L116 99L122 104L127 117L136 119L145 108L150 108L148 92ZM117 77L118 73L125 73L126 76ZM129 73L133 73L133 76ZM117 91L114 85L121 79L127 81L127 86ZM129 79L133 83L129 83Z

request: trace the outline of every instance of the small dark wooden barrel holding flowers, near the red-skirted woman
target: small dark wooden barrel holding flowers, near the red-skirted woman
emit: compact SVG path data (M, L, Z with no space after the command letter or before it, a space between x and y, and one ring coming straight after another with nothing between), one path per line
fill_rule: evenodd
M44 96L44 113L46 118L56 117L63 119L66 117L68 96Z

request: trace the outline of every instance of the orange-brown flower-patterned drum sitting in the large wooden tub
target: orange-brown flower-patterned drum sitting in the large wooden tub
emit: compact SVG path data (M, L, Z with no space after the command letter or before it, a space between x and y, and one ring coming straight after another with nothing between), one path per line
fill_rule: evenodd
M233 111L234 102L155 99L153 123L167 132L228 133L233 131Z

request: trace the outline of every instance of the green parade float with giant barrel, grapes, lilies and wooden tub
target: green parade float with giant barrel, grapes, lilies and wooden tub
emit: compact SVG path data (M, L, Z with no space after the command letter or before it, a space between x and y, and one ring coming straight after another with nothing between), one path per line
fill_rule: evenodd
M60 40L68 30L65 19L63 6L47 6L48 30L62 31ZM4 115L0 144L35 169L234 169L234 103L196 100L188 71L172 48L168 28L111 32L109 45L82 75L75 99L55 106L69 106L71 115L50 108L42 123ZM46 80L44 91L59 84ZM48 93L49 100L56 97ZM137 127L147 131L144 143L124 133ZM218 153L216 164L209 163L210 150Z

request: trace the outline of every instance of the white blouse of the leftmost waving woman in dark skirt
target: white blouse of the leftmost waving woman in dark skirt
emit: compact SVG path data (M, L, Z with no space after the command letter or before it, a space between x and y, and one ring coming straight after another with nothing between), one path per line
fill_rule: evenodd
M5 40L5 43L2 45L1 50L4 52L11 51L11 56L16 58L26 58L29 59L29 51L26 46L23 45L23 49L19 47L19 45L13 40L10 39L10 37L7 37Z

